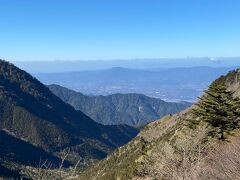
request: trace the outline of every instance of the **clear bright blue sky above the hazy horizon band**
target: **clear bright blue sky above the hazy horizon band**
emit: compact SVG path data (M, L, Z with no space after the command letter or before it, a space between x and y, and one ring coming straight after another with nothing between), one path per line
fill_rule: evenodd
M0 0L0 58L240 56L240 0Z

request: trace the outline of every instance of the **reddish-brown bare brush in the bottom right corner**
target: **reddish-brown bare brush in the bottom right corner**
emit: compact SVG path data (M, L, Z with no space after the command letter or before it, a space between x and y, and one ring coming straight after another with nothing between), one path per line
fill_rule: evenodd
M218 143L208 152L199 173L201 179L240 179L240 137Z

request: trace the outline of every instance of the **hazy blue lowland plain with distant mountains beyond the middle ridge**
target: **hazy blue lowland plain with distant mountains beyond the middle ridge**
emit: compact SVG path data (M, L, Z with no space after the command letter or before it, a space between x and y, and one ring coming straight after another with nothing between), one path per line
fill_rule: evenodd
M34 74L43 83L58 84L87 95L140 93L166 101L193 102L228 67L187 67L172 69L126 69Z

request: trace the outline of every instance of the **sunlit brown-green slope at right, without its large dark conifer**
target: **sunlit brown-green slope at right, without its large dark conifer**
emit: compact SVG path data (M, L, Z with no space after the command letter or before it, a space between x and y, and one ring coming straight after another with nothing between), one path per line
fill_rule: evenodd
M240 97L240 70L214 83L227 85ZM192 113L195 108L150 123L79 179L239 179L240 130L220 141L210 136L208 123L193 127L198 120Z

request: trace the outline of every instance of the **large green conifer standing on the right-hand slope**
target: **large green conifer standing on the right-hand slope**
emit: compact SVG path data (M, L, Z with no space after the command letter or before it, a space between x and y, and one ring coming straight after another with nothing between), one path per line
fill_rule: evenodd
M209 123L212 135L219 135L224 140L225 134L238 127L240 100L234 98L233 92L217 81L199 99L197 108L193 109L194 116Z

